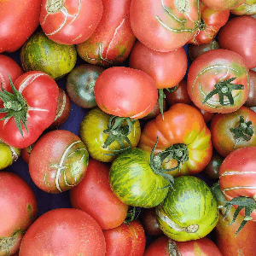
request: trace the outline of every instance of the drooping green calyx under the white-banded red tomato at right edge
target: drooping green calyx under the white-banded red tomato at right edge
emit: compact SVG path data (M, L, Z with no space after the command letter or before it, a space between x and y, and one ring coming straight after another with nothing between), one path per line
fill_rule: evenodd
M236 208L236 211L234 212L233 219L229 225L233 224L236 221L236 217L238 216L241 209L244 208L244 211L245 211L245 216L240 224L240 227L236 231L236 235L237 235L238 232L245 226L245 224L247 224L247 221L253 219L251 214L253 210L256 209L256 201L253 198L246 197L246 196L237 196L230 201L226 201L224 206L218 206L218 208L222 208L222 207L226 208L226 211L224 213L224 218L227 217L227 214L233 205L236 205L237 208Z

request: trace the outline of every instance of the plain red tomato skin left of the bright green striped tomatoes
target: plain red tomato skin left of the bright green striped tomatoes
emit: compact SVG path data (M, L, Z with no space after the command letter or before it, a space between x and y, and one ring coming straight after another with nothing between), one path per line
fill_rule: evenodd
M128 211L128 206L110 189L109 168L107 163L90 158L84 178L69 190L72 207L89 213L102 230L122 224Z

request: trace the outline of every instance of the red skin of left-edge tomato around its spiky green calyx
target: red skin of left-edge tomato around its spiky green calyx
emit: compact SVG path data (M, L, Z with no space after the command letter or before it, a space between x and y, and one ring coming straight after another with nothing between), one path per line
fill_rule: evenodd
M21 74L15 80L14 85L26 99L28 132L22 126L23 139L12 117L6 123L4 120L0 121L0 139L15 148L26 148L35 143L43 131L55 120L59 87L54 79L40 71ZM0 118L5 115L6 113L0 113Z

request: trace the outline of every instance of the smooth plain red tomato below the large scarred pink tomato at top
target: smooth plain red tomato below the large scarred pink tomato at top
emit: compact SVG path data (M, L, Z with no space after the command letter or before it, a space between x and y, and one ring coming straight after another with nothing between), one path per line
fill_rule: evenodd
M183 47L170 52L160 52L137 41L131 49L129 67L148 73L158 89L171 88L183 79L188 67L188 58Z

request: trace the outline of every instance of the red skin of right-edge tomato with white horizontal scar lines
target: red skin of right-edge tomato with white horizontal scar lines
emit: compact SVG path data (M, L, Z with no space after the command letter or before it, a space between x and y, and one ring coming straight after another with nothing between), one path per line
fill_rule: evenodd
M234 197L256 195L255 169L256 169L256 147L238 148L225 157L219 168L219 187L226 199ZM233 205L237 207L236 205ZM244 209L240 214L244 216ZM251 214L256 219L256 210ZM238 233L239 234L239 233Z

